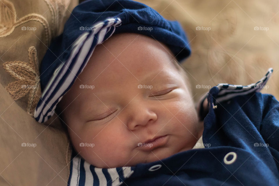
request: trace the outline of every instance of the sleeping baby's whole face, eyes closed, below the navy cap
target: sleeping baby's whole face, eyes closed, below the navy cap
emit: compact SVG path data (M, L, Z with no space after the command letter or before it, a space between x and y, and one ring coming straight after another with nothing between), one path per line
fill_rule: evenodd
M171 51L133 33L103 44L60 102L79 155L96 167L112 168L192 149L203 125Z

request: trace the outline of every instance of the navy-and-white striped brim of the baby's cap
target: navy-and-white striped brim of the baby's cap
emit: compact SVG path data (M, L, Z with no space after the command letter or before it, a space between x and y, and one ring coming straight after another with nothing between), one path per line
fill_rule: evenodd
M69 58L54 71L42 93L34 112L36 121L43 123L53 116L57 103L83 71L95 47L107 40L120 25L121 19L109 18L94 24L90 32L86 31L76 39Z

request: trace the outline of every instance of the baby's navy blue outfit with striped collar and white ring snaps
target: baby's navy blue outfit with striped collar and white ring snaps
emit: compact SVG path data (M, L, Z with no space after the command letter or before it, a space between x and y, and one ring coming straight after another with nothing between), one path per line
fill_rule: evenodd
M205 148L134 167L101 169L73 153L69 185L279 185L279 102L259 91L272 69L247 86L218 84L208 100Z

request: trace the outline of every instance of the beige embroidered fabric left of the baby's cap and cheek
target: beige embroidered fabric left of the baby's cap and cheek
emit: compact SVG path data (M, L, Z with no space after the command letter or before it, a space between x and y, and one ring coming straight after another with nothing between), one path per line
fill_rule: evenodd
M32 117L40 62L78 0L0 0L0 185L67 185L71 149L58 118Z

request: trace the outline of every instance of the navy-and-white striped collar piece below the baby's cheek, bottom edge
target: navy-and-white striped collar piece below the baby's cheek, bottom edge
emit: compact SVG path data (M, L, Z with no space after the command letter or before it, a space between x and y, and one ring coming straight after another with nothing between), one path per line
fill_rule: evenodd
M135 167L97 168L76 156L71 162L68 185L118 186L133 174L134 169Z

